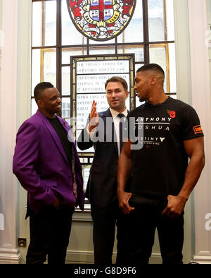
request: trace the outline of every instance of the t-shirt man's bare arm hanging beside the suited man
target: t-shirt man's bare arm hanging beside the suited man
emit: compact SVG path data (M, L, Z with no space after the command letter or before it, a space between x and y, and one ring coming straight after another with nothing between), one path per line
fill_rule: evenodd
M129 214L131 210L134 210L134 207L130 207L128 203L129 199L132 197L132 193L124 191L132 169L131 155L131 142L124 142L117 170L117 197L119 199L120 208L124 214Z

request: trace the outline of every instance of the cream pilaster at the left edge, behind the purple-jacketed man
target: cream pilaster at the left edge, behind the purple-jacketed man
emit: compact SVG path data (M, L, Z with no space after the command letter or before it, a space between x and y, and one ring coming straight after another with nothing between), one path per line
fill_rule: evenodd
M0 261L18 262L16 244L17 182L11 173L16 132L18 1L2 3L4 42L1 59L0 99L0 202L4 231L0 231ZM7 15L7 16L5 16Z

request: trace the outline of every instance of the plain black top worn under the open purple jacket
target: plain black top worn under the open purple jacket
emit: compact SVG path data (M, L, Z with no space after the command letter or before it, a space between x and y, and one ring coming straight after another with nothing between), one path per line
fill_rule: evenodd
M53 126L54 130L56 131L60 139L60 143L63 145L63 149L65 151L65 155L68 159L68 162L70 166L72 166L72 143L68 140L67 131L65 131L65 128L63 128L63 126L61 125L57 117L54 119L49 119L49 118L47 119L49 120L51 126Z

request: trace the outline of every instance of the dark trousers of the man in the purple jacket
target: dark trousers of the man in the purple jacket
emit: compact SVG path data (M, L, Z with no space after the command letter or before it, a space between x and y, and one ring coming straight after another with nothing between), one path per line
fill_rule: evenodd
M27 264L43 264L48 255L48 263L65 263L73 208L47 207L30 215L30 245L27 250Z

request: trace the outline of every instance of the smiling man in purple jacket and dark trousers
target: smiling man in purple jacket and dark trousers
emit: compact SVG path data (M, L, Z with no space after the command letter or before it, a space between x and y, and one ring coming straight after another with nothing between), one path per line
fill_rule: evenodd
M13 173L27 190L27 264L65 263L72 214L84 209L82 167L68 123L56 116L60 94L51 83L34 88L38 110L20 126Z

